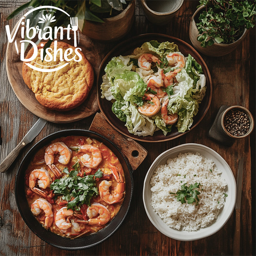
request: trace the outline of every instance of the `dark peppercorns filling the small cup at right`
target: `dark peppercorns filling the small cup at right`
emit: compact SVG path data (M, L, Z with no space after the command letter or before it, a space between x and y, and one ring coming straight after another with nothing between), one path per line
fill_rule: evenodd
M224 116L224 126L231 135L243 136L250 129L250 119L244 111L231 109Z

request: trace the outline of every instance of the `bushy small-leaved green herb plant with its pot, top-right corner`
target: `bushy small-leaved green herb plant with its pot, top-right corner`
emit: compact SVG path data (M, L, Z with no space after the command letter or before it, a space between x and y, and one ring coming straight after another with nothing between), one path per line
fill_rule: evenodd
M198 51L208 56L232 52L255 26L255 1L200 0L192 16L189 38Z

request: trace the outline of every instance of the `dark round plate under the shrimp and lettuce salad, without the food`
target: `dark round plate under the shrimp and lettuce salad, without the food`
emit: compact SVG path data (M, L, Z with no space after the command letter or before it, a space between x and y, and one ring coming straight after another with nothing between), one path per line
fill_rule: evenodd
M124 134L127 137L130 137L134 140L140 140L145 142L160 142L160 141L167 141L167 140L173 140L177 137L182 136L183 134L188 133L189 131L186 131L185 133L179 133L177 131L176 127L173 127L172 132L168 133L167 136L163 135L162 131L157 131L154 133L153 136L146 136L146 137L139 137L134 134L130 134L128 132L128 129L125 127L125 123L120 121L115 114L111 111L112 103L106 99L101 98L101 90L100 86L102 84L102 76L105 74L104 68L108 64L109 61L111 61L111 58L119 55L130 55L133 50L136 47L140 47L143 43L151 41L151 40L157 40L158 42L174 42L179 47L180 52L183 53L184 56L187 56L188 54L192 55L192 57L195 58L195 60L202 66L204 75L206 77L206 94L204 96L203 101L199 105L199 111L197 115L193 118L194 122L192 126L190 127L190 130L195 128L199 122L204 118L205 114L207 113L211 100L212 100L212 79L211 75L209 73L209 70L207 68L207 65L205 64L202 57L199 55L199 53L189 44L186 42L171 37L169 35L162 35L162 34L144 34L144 35L138 35L134 38L130 38L120 44L118 44L115 48L113 48L108 55L103 59L98 72L97 77L97 99L99 103L99 108L102 111L105 118L108 120L108 122L120 133Z

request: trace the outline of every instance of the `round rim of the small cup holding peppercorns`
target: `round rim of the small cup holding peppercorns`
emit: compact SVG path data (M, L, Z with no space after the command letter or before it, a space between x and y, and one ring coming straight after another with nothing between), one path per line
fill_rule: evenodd
M237 110L240 110L240 111L243 111L244 113L247 114L247 116L249 117L249 121L250 121L250 128L249 130L247 131L246 134L244 135L241 135L241 136L234 136L232 134L230 134L225 125L224 125L224 119L225 119L225 116L226 114L232 110L232 109L237 109ZM244 107L241 107L241 106L231 106L229 108L227 108L222 114L221 114L221 128L223 129L224 133L231 137L231 138L234 138L234 139L240 139L240 138L244 138L244 137L247 137L251 134L251 132L253 131L253 128L254 128L254 120L253 120L253 115L250 113L250 111L247 109L247 108L244 108Z

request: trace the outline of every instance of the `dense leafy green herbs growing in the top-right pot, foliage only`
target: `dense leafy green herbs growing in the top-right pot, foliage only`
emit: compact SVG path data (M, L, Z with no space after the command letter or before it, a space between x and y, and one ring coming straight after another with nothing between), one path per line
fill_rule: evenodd
M199 16L198 41L202 47L217 43L231 44L255 26L255 1L200 0L206 10Z

